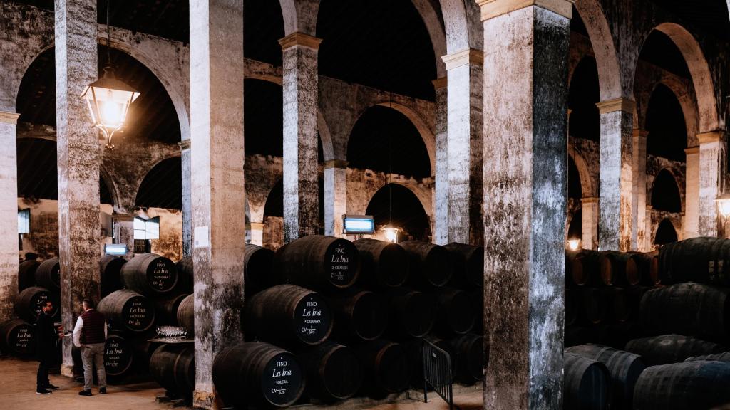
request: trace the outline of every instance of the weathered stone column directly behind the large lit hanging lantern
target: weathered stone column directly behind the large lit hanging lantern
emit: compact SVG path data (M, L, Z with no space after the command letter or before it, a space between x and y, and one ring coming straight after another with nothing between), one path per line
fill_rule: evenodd
M96 0L55 0L55 107L61 317L72 330L81 301L99 301L99 131L79 96L97 80ZM72 338L61 372L73 373Z

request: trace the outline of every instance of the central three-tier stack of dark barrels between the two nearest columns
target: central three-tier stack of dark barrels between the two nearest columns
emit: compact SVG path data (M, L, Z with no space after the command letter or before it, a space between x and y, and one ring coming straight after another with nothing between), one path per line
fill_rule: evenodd
M246 341L212 369L227 406L420 387L423 339L450 352L456 380L481 379L482 337L469 332L482 321L482 248L306 236L275 253L245 249Z

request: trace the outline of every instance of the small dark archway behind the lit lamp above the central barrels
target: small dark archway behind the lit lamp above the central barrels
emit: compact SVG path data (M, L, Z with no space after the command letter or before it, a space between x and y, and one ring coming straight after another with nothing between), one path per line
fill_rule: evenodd
M366 214L373 216L376 229L388 224L401 228L399 241L431 240L429 216L407 187L391 183L380 188L370 199Z

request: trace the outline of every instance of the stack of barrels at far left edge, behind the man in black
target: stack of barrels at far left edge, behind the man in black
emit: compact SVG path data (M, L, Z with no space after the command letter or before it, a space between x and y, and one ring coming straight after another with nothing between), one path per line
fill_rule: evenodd
M46 301L53 302L52 315L61 321L61 268L58 258L38 262L23 260L18 266L18 296L15 298L17 318L0 324L0 352L29 357L34 355L33 323Z

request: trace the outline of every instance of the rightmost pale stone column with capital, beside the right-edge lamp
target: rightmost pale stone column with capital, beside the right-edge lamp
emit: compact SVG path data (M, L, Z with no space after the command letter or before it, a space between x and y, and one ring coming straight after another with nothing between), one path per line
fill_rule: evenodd
M699 140L699 234L718 236L720 226L715 199L720 188L722 131L697 134Z

